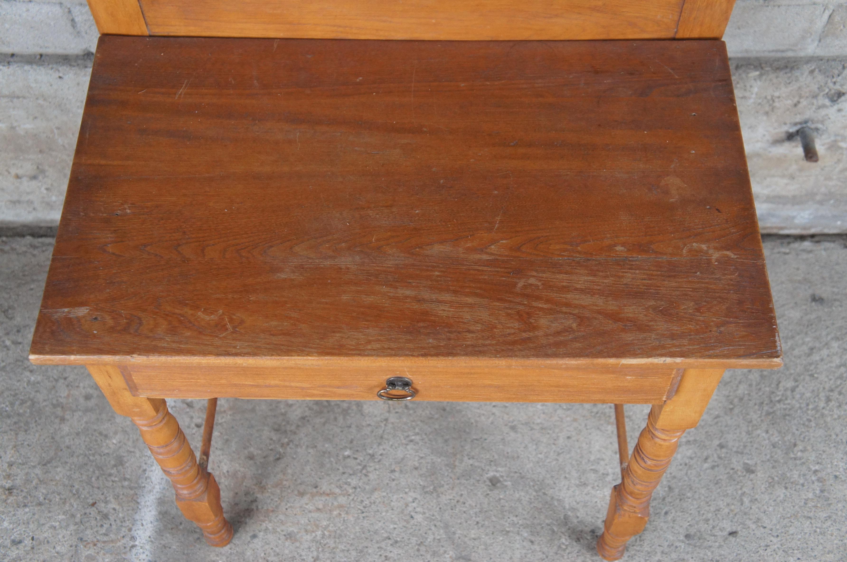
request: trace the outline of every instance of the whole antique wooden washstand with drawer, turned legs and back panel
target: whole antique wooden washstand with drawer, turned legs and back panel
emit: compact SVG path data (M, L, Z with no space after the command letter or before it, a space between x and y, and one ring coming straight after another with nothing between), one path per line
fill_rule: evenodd
M731 1L90 5L30 358L88 366L208 543L218 397L650 404L617 559L724 370L781 365ZM199 462L168 398L211 399Z

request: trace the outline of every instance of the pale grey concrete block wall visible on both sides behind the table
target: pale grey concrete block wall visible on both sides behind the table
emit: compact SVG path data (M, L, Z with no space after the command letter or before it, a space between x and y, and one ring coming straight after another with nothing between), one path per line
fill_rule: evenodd
M737 0L724 40L762 231L847 233L847 0ZM0 0L0 231L58 223L96 44L83 0Z

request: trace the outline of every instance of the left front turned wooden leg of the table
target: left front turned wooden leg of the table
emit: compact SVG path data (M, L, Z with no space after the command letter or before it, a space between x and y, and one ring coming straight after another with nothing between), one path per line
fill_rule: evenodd
M113 409L138 427L153 458L174 485L176 504L185 518L202 529L213 547L230 543L232 526L224 518L218 482L197 465L194 451L165 401L133 396L117 367L89 366L88 371Z

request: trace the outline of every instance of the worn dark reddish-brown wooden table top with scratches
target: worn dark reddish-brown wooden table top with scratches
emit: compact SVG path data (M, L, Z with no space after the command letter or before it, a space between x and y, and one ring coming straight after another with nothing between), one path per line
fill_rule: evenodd
M722 41L100 39L36 363L780 356Z

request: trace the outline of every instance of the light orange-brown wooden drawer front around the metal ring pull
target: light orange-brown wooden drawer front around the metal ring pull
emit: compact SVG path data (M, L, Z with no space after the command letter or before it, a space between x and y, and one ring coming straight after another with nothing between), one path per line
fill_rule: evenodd
M288 366L127 366L134 394L150 398L377 399L389 377L408 377L416 400L659 404L681 370L621 367L409 366L293 363Z

